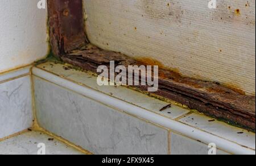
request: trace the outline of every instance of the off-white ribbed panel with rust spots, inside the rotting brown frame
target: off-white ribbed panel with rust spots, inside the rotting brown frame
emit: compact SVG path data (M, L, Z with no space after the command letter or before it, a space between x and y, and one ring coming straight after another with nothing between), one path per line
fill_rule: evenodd
M255 94L254 0L84 2L93 44Z

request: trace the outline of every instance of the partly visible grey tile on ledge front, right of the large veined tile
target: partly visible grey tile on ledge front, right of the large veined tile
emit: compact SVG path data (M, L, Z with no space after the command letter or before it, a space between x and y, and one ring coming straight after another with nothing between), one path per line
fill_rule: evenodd
M208 145L171 132L171 155L208 155ZM228 153L217 150L217 155Z

